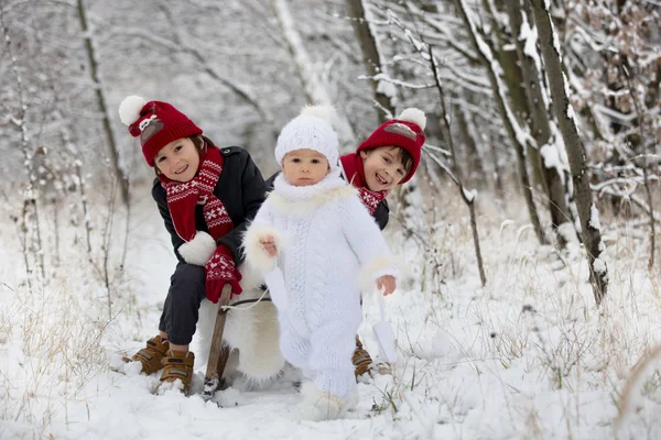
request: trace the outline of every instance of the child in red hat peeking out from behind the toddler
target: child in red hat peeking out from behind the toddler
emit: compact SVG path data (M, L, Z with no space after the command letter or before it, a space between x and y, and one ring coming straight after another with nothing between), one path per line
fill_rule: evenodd
M395 186L409 182L418 169L425 142L425 125L426 117L422 110L404 109L398 118L375 130L355 153L339 158L343 177L358 188L362 205L381 230L390 217L386 197ZM270 188L273 188L277 175L267 180ZM372 364L358 336L353 362L356 376L367 373Z

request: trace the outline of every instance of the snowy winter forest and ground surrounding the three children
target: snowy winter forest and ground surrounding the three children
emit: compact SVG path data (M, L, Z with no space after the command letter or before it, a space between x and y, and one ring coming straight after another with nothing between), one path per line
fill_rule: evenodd
M658 0L1 0L0 438L661 437L660 365L637 364L661 337L660 15ZM153 396L118 366L174 267L117 114L128 95L172 102L264 176L305 103L336 106L345 152L426 112L386 231L415 273L389 301L400 362L359 385L354 419L290 421L282 383L216 398L236 408Z

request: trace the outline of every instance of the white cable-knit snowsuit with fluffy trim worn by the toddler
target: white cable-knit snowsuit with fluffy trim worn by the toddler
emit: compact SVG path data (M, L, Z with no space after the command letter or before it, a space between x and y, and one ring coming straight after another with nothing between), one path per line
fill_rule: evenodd
M277 257L259 243L269 235ZM319 391L348 402L356 385L351 353L362 316L360 290L400 273L357 190L337 173L306 187L290 185L281 174L243 243L248 264L262 273L278 265L284 274L282 354Z

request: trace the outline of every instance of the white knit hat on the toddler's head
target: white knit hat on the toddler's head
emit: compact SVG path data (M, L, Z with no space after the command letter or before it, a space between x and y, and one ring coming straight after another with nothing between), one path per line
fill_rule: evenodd
M278 164L282 166L286 153L308 148L323 154L330 165L330 170L335 170L339 160L337 133L332 127L335 118L335 109L332 106L305 106L301 114L284 125L278 136Z

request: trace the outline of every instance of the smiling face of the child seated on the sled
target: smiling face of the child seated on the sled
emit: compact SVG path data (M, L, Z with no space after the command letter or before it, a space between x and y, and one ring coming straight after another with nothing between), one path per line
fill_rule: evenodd
M169 179L189 182L197 173L199 152L191 139L177 139L159 151L154 164Z

